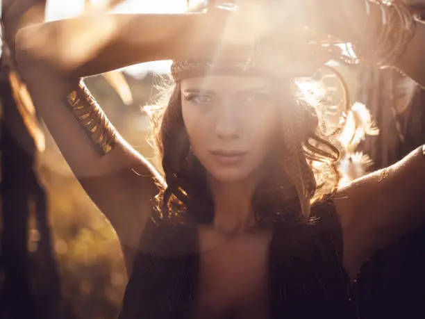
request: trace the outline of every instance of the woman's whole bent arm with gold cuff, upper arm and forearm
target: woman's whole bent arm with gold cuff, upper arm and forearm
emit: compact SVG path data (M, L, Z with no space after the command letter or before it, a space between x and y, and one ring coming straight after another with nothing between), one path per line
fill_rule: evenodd
M81 78L172 57L191 18L168 17L162 24L160 19L85 16L28 26L16 39L19 70L38 113L78 181L117 231L128 270L161 178L119 136ZM174 38L178 34L181 38ZM124 36L127 47L119 44Z

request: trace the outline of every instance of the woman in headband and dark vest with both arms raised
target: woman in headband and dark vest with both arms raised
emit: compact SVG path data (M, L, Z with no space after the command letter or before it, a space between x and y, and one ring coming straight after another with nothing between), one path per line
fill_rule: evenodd
M403 6L304 2L280 12L306 13L308 26L356 42L365 60L425 83L425 28ZM121 318L349 318L350 279L365 259L424 219L408 209L422 199L422 149L310 207L320 191L313 165L332 172L338 150L317 133L313 108L291 94L290 79L315 63L282 30L304 19L282 24L282 16L251 9L95 15L17 36L40 114L122 243L131 277ZM246 50L259 36L249 27L265 21L257 50ZM370 38L360 41L353 21L369 26ZM92 45L65 32L71 27ZM176 86L156 122L162 177L119 137L79 79L165 58L174 60ZM326 172L317 174L325 186Z

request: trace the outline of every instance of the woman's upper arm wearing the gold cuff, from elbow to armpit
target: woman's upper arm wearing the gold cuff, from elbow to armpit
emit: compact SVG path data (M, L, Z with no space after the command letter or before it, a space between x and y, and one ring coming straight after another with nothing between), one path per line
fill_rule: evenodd
M18 63L60 152L117 231L130 270L158 191L158 173L119 136L77 76L59 72L42 59L19 58Z

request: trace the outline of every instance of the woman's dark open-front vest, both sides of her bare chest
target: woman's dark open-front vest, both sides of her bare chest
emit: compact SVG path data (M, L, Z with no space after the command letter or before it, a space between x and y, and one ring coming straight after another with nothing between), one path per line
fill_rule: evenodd
M342 268L338 215L331 202L315 205L312 213L318 218L315 224L274 224L269 246L270 318L356 318ZM196 227L149 222L119 319L190 318L198 260Z

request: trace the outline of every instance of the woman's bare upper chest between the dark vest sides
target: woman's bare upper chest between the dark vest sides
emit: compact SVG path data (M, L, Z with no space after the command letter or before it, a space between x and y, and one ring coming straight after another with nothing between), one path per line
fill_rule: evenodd
M245 312L244 318L258 313L251 318L264 318L271 240L272 231L267 230L237 236L200 230L197 311L237 317Z

